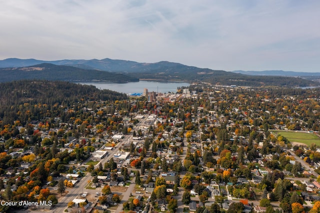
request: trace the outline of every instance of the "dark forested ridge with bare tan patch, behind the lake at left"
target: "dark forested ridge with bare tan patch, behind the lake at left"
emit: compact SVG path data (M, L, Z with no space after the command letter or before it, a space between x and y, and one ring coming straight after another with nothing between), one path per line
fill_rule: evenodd
M41 63L34 66L20 68L1 68L0 82L21 79L45 79L65 81L106 81L106 82L130 82L138 81L134 76L130 77L120 73L110 73L101 70L82 69L66 65L54 65Z

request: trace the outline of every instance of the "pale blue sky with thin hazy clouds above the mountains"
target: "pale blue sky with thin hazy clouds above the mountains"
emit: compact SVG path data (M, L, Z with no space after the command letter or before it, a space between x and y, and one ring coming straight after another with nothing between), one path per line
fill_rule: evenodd
M320 72L319 0L0 0L0 59Z

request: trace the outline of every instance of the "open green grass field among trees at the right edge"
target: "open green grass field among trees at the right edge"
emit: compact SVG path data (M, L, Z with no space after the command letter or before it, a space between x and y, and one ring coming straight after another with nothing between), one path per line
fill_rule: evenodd
M320 138L314 133L304 133L304 132L295 132L295 131L281 131L281 130L272 130L271 132L276 135L282 135L287 138L290 142L300 142L306 145L311 143L320 144Z

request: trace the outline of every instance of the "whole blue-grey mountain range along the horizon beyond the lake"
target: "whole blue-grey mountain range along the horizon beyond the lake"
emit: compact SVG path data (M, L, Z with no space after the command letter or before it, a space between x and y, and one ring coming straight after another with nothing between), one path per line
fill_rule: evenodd
M320 73L270 71L233 72L187 66L181 63L159 61L140 63L129 60L104 58L63 59L44 61L37 59L7 58L0 60L0 81L18 79L48 79L68 81L112 81L129 82L138 79L163 81L209 82L221 85L244 86L317 86L319 82L312 77ZM270 75L270 76L269 76ZM278 76L281 75L281 76ZM288 77L294 76L294 77ZM301 76L301 77L297 77Z

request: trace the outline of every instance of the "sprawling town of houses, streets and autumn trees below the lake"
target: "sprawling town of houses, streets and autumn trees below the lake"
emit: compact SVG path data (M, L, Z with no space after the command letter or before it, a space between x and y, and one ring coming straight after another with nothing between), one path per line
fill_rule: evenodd
M20 119L0 117L0 210L318 212L319 100L319 88L197 83L26 101Z

